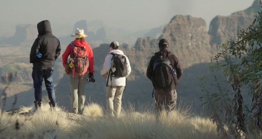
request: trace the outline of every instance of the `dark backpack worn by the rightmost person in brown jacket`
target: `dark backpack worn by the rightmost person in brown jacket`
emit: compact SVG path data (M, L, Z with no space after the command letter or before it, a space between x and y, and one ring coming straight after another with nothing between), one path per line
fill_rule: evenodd
M171 83L178 84L176 70L168 57L159 56L153 65L152 83L155 88L168 89Z

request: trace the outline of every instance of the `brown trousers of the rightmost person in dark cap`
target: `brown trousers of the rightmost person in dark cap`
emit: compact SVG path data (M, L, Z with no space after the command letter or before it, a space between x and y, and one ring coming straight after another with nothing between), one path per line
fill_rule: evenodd
M176 90L154 90L154 99L157 115L159 116L163 110L169 114L176 108L177 92Z

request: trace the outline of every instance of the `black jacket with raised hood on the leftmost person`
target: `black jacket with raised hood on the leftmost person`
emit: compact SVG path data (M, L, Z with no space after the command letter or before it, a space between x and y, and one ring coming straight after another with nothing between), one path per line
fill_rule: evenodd
M60 55L60 42L52 35L49 20L39 22L37 30L38 37L31 48L30 63L33 63L33 67L40 69L53 68L54 61ZM42 54L41 58L36 57L38 51Z

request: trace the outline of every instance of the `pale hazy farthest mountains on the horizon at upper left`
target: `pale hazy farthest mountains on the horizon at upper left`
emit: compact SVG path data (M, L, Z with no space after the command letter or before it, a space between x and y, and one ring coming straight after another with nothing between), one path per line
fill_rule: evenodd
M58 25L55 25L55 27ZM106 26L102 21L92 21L87 22L86 20L80 20L75 23L72 31L68 33L66 36L57 36L55 35L57 32L64 30L68 30L68 28L54 28L52 26L52 31L55 36L58 37L61 44L67 45L72 41L70 35L75 32L76 28L83 28L85 34L88 35L86 40L91 44L91 46L98 47L101 43L112 42L113 40L117 40L119 42L126 42L132 44L138 37L150 36L150 37L159 37L162 32L163 27L160 28L152 28L145 29L138 32L127 32L123 29L118 28L110 28ZM16 25L16 32L14 36L11 37L1 37L0 38L0 47L1 45L11 45L11 46L19 46L21 43L33 43L35 38L37 38L38 32L36 25L31 24L19 24Z

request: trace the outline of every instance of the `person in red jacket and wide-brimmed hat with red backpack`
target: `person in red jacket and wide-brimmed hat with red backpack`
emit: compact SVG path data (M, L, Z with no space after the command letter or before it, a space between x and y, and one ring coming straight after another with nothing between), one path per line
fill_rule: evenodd
M66 73L70 78L71 112L82 114L87 77L89 80L94 81L93 51L90 45L85 41L87 35L84 34L83 29L77 28L76 32L72 34L71 37L75 40L66 47L62 59ZM88 75L87 72L89 72Z

